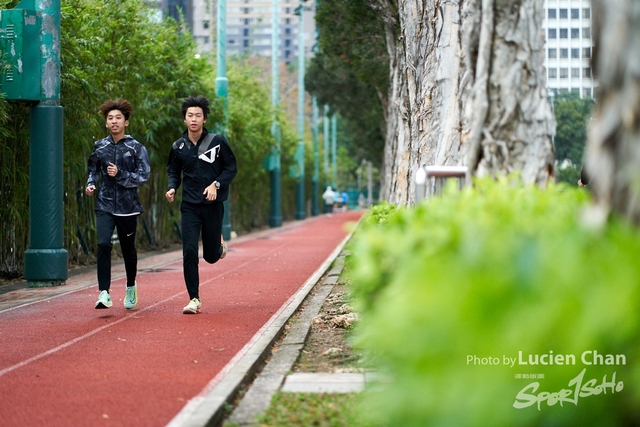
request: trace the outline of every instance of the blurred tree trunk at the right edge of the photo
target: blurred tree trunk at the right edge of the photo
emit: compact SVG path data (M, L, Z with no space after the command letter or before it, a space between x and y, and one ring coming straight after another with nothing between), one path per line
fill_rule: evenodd
M598 103L587 142L590 175L602 222L614 209L640 223L640 7L634 0L594 0L593 70Z

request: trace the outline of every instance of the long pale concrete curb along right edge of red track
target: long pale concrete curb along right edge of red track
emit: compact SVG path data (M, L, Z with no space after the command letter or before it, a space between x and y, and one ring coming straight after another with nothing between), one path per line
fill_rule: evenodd
M340 242L324 263L307 279L300 290L283 304L280 310L269 319L220 373L204 387L200 394L187 402L182 411L171 420L167 427L217 426L223 421L227 406L233 402L240 389L249 384L253 380L254 375L263 368L268 353L282 334L284 326L298 310L309 292L322 278L333 261L342 252L352 234L353 231ZM340 266L339 271L341 270L342 267ZM334 274L334 270L332 270L330 274ZM299 349L302 348L303 344L304 339L301 343L298 343ZM290 357L293 357L294 354L297 357L298 353L293 348L292 350L293 352L290 354ZM295 361L295 359L293 359L293 361ZM280 383L278 383L278 387L279 385Z

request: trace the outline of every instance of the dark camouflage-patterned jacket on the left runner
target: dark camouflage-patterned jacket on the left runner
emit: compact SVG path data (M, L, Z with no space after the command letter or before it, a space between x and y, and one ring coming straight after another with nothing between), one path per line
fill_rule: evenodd
M107 175L107 166L113 163L118 167L115 177ZM88 161L89 179L87 187L95 185L96 211L105 211L114 215L131 215L142 212L142 203L138 198L138 187L144 184L151 174L147 149L129 135L125 135L117 144L109 135L93 146ZM102 175L102 183L98 180Z

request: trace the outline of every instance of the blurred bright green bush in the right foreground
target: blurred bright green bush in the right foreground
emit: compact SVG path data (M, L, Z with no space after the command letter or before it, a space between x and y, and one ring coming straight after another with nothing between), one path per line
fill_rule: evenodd
M386 381L362 416L389 426L637 425L640 233L615 219L582 227L588 197L563 184L479 181L385 225L364 221L351 246L355 339ZM626 363L583 363L593 351ZM605 392L587 389L613 375Z

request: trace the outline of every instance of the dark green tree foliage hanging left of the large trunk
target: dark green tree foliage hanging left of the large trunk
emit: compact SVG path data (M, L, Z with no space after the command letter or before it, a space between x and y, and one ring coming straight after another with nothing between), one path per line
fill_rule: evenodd
M356 163L366 159L379 167L389 84L382 20L366 0L322 0L316 26L318 49L305 73L305 87L320 105L340 114L345 122L340 145Z

